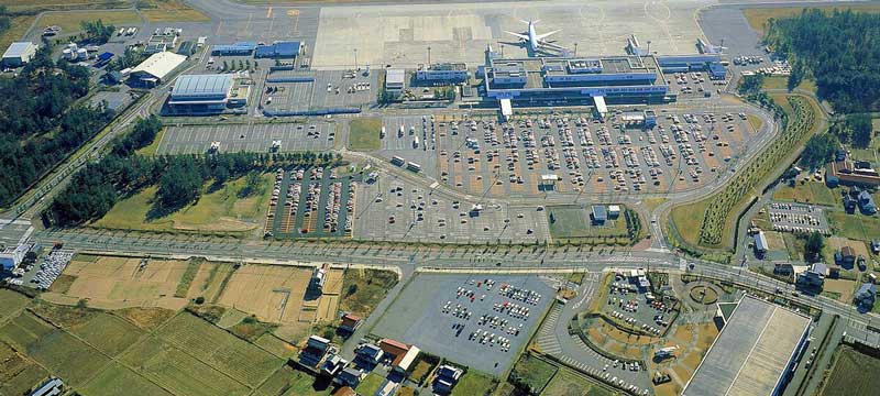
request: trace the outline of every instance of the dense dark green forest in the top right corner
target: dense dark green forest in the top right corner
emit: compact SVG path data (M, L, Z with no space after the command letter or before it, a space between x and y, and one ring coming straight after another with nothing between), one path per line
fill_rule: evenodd
M815 79L818 96L840 112L880 108L880 14L805 9L770 20L765 41L792 65L789 87Z

